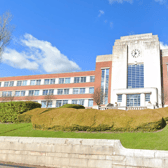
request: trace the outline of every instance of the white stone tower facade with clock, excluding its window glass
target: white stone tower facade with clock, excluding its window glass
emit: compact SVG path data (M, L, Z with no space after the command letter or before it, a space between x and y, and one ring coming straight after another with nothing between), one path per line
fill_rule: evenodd
M143 64L144 87L128 88L128 65ZM128 94L140 94L140 106L162 107L160 45L158 36L132 35L116 40L112 54L111 103L127 106ZM150 102L145 94L150 94ZM122 102L117 102L117 95Z

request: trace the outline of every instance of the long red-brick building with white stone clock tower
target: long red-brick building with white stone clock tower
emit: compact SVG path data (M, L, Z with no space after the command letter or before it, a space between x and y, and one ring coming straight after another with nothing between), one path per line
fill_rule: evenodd
M101 86L103 104L120 108L158 108L168 105L168 49L161 50L157 35L121 37L113 53L96 58L95 71L0 78L0 101L32 100L49 107L81 104L96 107L92 94Z

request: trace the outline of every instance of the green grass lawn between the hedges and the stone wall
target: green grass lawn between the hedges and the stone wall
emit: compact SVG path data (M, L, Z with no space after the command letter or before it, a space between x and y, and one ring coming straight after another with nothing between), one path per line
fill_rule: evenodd
M77 133L34 130L31 123L0 124L0 136L119 139L126 148L168 150L168 126L153 133Z

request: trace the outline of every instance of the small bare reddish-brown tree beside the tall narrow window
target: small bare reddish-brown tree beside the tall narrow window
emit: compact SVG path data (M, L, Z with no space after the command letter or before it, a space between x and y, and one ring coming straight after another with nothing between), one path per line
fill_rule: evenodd
M94 90L92 98L97 105L100 105L102 102L104 102L105 94L103 93L101 87L98 87Z

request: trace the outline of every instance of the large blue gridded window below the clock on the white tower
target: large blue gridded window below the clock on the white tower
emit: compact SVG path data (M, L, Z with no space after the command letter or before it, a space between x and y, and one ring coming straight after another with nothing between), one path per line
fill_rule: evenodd
M144 65L128 65L128 88L144 88Z

